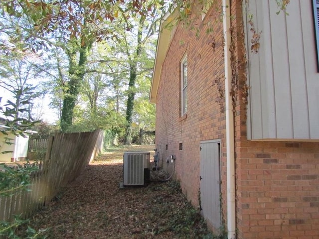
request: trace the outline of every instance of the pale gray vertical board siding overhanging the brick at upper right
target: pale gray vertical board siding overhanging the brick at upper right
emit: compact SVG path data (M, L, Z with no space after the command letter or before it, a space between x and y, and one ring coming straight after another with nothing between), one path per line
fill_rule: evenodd
M288 14L275 0L243 3L248 58L247 138L319 139L319 73L312 1L293 0ZM250 16L260 32L251 52Z

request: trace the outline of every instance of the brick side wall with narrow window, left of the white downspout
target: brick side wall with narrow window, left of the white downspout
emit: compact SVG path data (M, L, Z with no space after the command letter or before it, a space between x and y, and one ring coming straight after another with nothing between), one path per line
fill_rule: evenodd
M209 17L196 21L200 37L178 25L162 66L157 96L157 148L163 158L176 155L176 177L194 205L198 205L200 141L221 139L223 145L225 141L225 114L216 102L219 93L214 84L220 78L220 84L224 85L223 28L222 22L218 22L214 24L214 32L206 34L208 20ZM187 116L181 117L180 61L185 54L188 110ZM183 150L179 150L179 143L183 144ZM223 180L226 182L226 174ZM224 187L223 193L226 194Z

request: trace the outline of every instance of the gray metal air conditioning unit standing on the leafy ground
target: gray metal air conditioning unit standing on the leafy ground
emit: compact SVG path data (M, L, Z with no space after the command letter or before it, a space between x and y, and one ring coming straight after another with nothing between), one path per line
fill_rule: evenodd
M123 186L144 186L150 181L150 157L148 151L124 152Z

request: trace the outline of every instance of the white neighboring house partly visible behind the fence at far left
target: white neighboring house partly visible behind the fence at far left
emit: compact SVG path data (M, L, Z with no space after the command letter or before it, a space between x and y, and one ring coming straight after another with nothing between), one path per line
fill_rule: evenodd
M8 128L7 126L0 124L0 129ZM27 130L25 136L16 136L12 133L8 135L0 132L0 162L17 162L25 160L28 153L29 134L36 133L36 131ZM12 140L12 144L4 143L5 137ZM5 151L11 151L8 153L2 153Z

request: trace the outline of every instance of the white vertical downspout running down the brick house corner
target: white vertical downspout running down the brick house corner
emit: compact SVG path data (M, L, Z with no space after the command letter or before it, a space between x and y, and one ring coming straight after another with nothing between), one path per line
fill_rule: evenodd
M234 113L231 91L230 60L230 0L223 0L224 30L224 65L225 65L225 98L226 98L226 152L227 152L227 231L228 239L236 238L236 206L235 206L235 145L234 145Z

